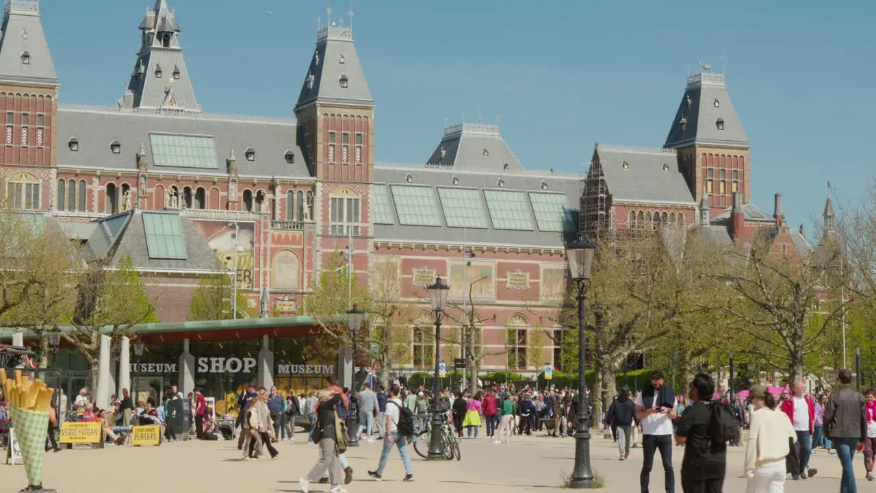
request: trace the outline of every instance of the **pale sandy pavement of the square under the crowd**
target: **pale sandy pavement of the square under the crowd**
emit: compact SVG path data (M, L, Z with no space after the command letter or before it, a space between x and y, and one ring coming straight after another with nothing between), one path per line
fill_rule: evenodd
M299 439L303 437L298 435ZM437 493L439 491L506 493L514 491L560 491L562 474L573 465L573 439L546 436L515 437L510 445L495 445L484 439L463 439L463 461L427 462L413 453L416 481L402 482L405 472L397 451L393 451L383 482L375 482L366 473L377 467L382 441L362 443L347 453L356 470L356 480L347 486L350 493ZM298 478L306 475L316 461L316 448L299 441L279 444L277 461L240 461L236 442L188 441L164 444L161 447L107 447L104 450L64 450L46 455L44 483L60 493L155 493L187 490L201 492L297 492ZM641 449L632 449L629 461L618 461L617 447L611 440L595 434L591 447L593 466L604 477L607 492L639 490ZM681 469L683 449L675 447L675 475ZM741 477L744 452L731 448L724 491L745 491ZM651 491L663 492L663 470L659 457L655 460ZM790 481L786 491L809 493L839 489L839 461L819 449L812 458L819 474L807 481ZM862 491L864 464L855 457L858 484ZM23 466L0 465L0 493L13 493L25 487ZM876 484L868 485L876 488ZM313 484L311 491L328 491L329 485ZM681 483L676 480L676 492Z

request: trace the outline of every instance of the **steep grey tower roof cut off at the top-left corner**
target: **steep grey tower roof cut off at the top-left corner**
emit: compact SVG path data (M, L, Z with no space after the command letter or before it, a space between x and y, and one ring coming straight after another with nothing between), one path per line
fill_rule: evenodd
M25 52L30 63L22 61ZM52 54L39 22L38 0L6 0L0 68L0 81L58 85Z

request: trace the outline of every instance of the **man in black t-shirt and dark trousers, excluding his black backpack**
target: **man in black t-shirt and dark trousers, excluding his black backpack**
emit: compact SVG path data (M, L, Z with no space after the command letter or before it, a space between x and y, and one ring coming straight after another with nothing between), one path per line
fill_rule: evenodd
M693 403L682 413L675 432L675 443L684 444L682 490L685 493L721 493L727 468L727 444L713 443L709 436L710 401L715 382L709 375L697 374L690 382Z

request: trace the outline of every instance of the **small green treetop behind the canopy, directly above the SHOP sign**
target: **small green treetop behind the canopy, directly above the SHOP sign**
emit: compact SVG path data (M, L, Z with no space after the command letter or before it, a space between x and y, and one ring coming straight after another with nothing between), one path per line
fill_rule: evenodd
M237 295L235 294L237 291ZM189 320L229 320L234 317L234 297L237 296L237 318L253 318L254 311L246 304L241 289L234 289L229 275L215 273L198 281L188 310Z

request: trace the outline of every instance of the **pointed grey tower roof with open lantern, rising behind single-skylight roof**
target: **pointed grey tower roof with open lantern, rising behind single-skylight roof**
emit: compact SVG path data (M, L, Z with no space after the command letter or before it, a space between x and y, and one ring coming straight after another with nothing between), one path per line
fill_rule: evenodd
M166 0L156 0L154 9L146 12L139 29L142 31L141 49L128 89L118 100L118 106L200 112L201 106L194 97L194 87L182 58L180 25L176 22L176 14L167 8ZM166 46L165 37L169 37ZM145 69L141 70L141 67Z

